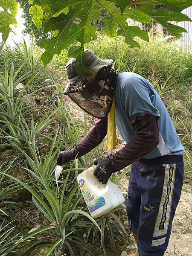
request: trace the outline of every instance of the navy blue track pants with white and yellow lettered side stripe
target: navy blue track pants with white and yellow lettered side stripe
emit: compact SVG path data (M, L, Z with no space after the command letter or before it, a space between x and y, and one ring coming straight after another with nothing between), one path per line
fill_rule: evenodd
M131 166L126 211L139 256L163 256L183 186L183 157L141 159Z

